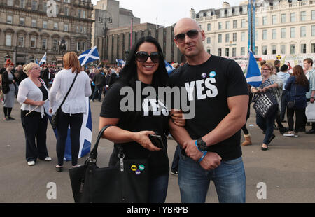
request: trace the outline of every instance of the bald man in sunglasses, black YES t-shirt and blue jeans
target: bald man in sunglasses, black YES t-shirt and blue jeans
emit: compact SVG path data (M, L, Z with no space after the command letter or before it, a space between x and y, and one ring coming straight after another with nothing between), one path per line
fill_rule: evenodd
M205 202L212 180L220 202L245 202L240 147L248 106L244 74L234 60L204 50L205 34L195 20L179 20L174 34L187 63L172 73L169 86L186 87L188 101L195 100L195 117L186 120L185 127L169 121L172 136L183 149L179 161L181 200Z

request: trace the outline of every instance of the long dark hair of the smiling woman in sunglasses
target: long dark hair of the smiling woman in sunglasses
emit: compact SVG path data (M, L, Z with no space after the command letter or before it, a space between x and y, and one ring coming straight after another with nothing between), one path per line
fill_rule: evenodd
M131 85L132 87L135 85L135 81L138 78L137 74L137 64L136 64L136 53L140 47L141 44L148 42L148 43L153 43L156 48L158 48L158 53L160 55L160 62L157 71L153 74L153 80L152 80L152 85L155 88L158 87L165 87L167 85L167 80L169 78L169 75L165 69L165 60L163 57L163 52L160 44L158 41L151 37L151 36L146 36L142 37L137 41L137 43L133 46L132 50L130 51L129 57L127 59L127 63L125 67L122 69L120 72L121 77L120 81L125 83L126 85Z

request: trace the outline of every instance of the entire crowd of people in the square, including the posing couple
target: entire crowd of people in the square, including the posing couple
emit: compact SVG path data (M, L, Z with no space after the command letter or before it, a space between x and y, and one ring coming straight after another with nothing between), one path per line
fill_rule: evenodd
M174 41L186 63L168 75L165 59L158 41L142 37L132 48L125 66L80 66L75 52L63 57L64 69L29 63L13 71L13 63L6 61L1 70L1 90L4 94L5 120L10 116L15 96L21 106L22 127L25 131L26 160L35 165L37 158L52 160L46 146L47 116L44 106L57 116L58 139L56 144L57 172L64 167L66 134L70 125L72 168L78 165L80 126L87 112L85 98L102 102L99 130L111 125L103 138L113 141L114 148L109 165L119 161L118 152L123 148L125 159L148 158L151 168L148 202L165 202L169 180L167 135L172 134L178 146L173 174L179 176L182 202L205 202L210 181L214 181L219 202L245 202L246 176L241 145L252 144L246 120L250 116L251 99L268 92L278 103L268 117L256 114L256 123L265 134L261 149L268 150L278 128L286 137L297 137L305 130L307 101L314 103L315 71L312 59L304 59L302 66L295 66L288 73L288 66L261 62L262 84L250 87L241 67L232 59L210 55L204 50L204 31L191 18L182 18L174 27ZM181 107L166 106L163 96L150 99L151 110L146 111L146 98L141 95L141 111L122 111L122 88L131 87L137 93L152 87L195 87L195 117L183 118ZM181 91L185 88L181 88ZM188 90L187 90L188 91ZM141 91L142 92L142 91ZM189 94L189 91L188 91ZM137 98L137 97L135 97ZM49 99L49 103L48 103ZM135 99L136 100L136 99ZM190 99L189 99L190 100ZM136 100L137 101L137 100ZM191 100L190 100L191 101ZM288 102L294 102L289 106ZM135 104L136 102L134 102ZM160 106L153 106L160 105ZM158 108L170 108L158 112ZM283 127L287 113L288 129ZM295 128L293 128L295 113ZM211 114L211 115L209 115ZM245 141L241 144L241 129ZM315 134L315 123L307 134ZM165 148L158 148L148 137L158 134Z

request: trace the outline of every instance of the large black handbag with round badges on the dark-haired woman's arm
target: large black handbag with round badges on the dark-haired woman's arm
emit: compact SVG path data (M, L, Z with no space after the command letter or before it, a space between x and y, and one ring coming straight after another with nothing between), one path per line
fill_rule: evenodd
M125 160L120 145L120 161L114 167L99 168L97 147L106 125L99 132L94 148L84 165L69 169L73 198L76 203L145 203L148 202L148 159Z

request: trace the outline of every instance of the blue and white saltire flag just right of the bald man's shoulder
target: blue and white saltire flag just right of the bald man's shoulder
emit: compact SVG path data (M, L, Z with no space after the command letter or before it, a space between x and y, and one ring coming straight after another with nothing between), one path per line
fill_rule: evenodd
M253 87L259 87L262 83L262 76L259 70L259 66L253 55L253 52L248 52L248 64L246 69L246 81Z

